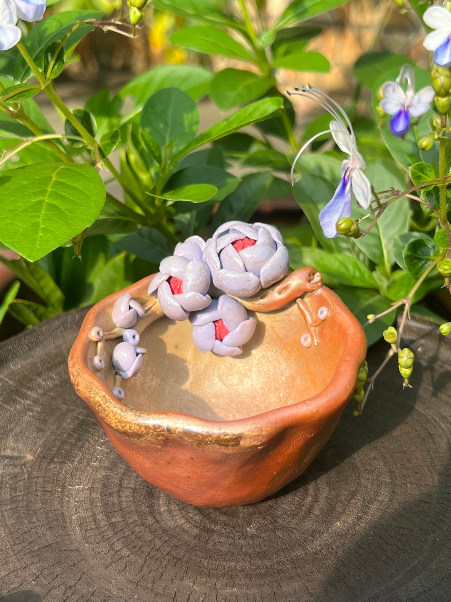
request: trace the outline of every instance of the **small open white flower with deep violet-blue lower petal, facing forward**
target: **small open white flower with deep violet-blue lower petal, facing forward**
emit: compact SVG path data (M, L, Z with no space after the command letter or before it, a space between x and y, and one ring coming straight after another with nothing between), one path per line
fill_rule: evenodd
M404 91L400 84L407 82ZM410 65L403 65L395 81L387 81L382 85L381 107L392 115L389 123L390 132L397 137L407 134L412 117L420 117L431 107L434 90L430 85L415 93L414 72Z

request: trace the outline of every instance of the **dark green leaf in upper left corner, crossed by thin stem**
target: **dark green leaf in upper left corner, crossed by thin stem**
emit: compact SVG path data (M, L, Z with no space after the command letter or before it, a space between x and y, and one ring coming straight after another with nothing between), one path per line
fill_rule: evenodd
M35 23L28 36L22 40L22 43L37 66L42 69L44 66L44 52L49 44L52 42L61 42L63 37L69 33L70 29L76 23L81 23L88 19L102 19L102 16L102 11L98 10L73 10L52 14L52 16ZM93 29L93 25L82 25L76 31L73 31L64 43L66 51L75 46L82 37L86 36ZM14 67L14 79L17 82L22 82L32 76L33 73L26 64L25 59L22 56L17 58L16 66Z

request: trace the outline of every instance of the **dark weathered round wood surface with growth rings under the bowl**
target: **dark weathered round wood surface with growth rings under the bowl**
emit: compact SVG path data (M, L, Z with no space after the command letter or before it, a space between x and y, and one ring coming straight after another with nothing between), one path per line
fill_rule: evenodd
M74 393L66 358L83 315L0 345L0 600L451 600L451 350L429 326L410 327L429 362L413 389L393 362L303 476L259 504L208 509L133 473Z

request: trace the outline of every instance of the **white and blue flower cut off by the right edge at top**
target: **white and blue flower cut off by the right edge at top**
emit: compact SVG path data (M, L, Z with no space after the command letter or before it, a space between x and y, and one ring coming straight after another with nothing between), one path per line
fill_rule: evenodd
M423 41L426 50L432 51L432 59L440 67L451 66L451 13L443 6L430 6L423 14L423 21L431 31Z

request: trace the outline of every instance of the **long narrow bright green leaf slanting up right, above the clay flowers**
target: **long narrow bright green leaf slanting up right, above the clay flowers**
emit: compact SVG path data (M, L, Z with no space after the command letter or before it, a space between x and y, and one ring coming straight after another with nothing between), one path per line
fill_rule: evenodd
M243 107L229 117L225 117L219 123L216 123L211 128L206 129L202 134L198 135L191 143L187 144L174 158L174 161L194 151L200 146L213 142L218 138L222 138L227 134L232 134L238 129L244 128L252 123L257 123L266 119L280 109L283 104L281 98L264 98L261 101L253 102L246 107Z

